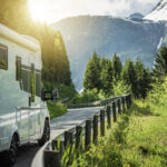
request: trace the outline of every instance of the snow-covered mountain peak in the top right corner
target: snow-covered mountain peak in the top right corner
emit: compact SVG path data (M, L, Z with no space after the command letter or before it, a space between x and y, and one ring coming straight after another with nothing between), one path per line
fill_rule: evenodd
M145 17L148 20L166 20L167 21L167 0L160 0L153 11Z

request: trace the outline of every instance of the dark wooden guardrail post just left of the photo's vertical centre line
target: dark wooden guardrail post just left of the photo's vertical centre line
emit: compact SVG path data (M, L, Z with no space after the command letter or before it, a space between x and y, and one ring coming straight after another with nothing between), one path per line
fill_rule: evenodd
M77 149L82 149L82 127L77 126L76 127L76 148Z

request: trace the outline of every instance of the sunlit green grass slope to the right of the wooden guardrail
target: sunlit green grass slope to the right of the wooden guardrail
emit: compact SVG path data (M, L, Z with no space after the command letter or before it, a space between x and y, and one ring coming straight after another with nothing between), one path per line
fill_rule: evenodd
M167 112L135 101L98 146L82 156L81 166L167 166Z

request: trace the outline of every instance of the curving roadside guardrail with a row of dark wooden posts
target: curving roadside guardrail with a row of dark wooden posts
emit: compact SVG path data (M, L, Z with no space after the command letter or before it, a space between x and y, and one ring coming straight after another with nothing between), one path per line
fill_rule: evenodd
M87 120L84 120L80 125L65 131L63 140L58 140L55 138L50 141L43 150L43 166L45 167L61 167L61 158L63 156L66 147L68 144L70 146L75 145L76 149L88 150L91 143L97 144L100 128L100 136L105 136L105 118L107 118L107 128L111 128L111 117L112 121L117 121L117 114L121 115L131 105L131 95L124 95L120 97L115 97L111 99L102 100L99 102L87 104L87 107L105 106L104 109L99 110ZM79 105L80 107L81 105ZM84 105L86 106L86 104ZM73 106L72 106L73 107ZM85 146L82 148L82 141L85 139ZM59 143L59 147L58 147ZM58 150L55 150L57 148Z

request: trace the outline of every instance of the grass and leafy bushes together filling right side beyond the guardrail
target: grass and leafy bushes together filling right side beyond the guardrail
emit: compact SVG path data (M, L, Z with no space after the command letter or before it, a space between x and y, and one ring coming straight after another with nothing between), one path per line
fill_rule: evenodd
M155 58L156 66L147 95L138 92L136 95L144 97L137 98L132 92L130 109L118 117L118 121L112 124L112 128L105 137L98 138L98 145L92 144L88 151L76 153L72 149L75 155L72 157L66 153L62 158L63 167L69 165L66 163L68 160L72 167L167 166L167 72L164 69L167 67L167 51L165 53L165 50L161 48L157 56L158 60ZM118 82L118 86L114 87L119 94L119 87L122 88L124 84L120 80Z

